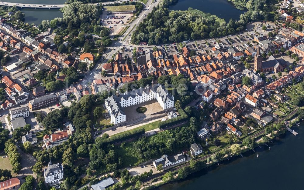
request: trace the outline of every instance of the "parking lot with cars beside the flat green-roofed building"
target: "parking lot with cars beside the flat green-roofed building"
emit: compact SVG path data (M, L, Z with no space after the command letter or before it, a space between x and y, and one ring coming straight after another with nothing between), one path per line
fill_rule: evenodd
M128 24L127 21L132 17L133 14L107 15L104 11L102 13L102 25L107 28L111 28L111 33L113 35L117 35L121 30L123 30L123 26Z

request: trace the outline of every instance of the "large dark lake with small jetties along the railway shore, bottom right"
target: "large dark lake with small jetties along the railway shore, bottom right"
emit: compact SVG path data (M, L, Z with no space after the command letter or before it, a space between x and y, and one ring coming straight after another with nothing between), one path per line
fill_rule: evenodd
M158 190L303 189L304 125L293 129L299 134L287 131L274 143L268 143L271 150L266 146L255 148L255 153L249 151L243 158L224 161Z

